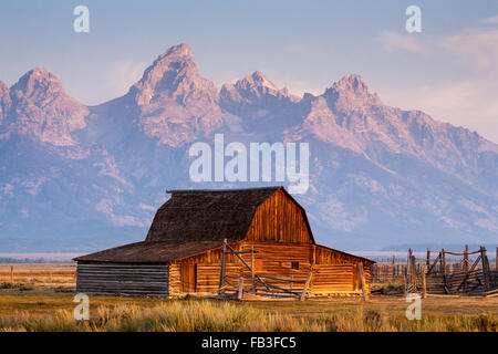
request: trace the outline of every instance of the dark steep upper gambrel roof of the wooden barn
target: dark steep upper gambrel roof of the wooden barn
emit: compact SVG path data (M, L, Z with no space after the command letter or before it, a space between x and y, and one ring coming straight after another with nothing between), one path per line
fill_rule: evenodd
M304 209L283 187L267 187L172 190L172 198L157 210L146 241L241 241L249 230L256 209L279 189L303 211L313 239Z

